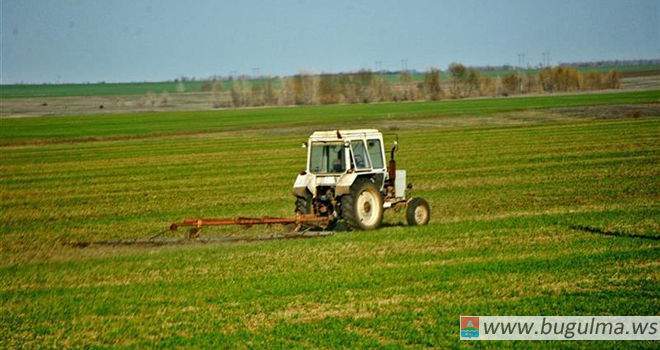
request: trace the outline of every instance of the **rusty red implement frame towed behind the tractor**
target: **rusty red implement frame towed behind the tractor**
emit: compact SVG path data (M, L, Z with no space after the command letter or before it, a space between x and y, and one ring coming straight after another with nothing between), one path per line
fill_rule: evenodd
M295 224L299 228L302 224L313 224L320 227L327 225L330 222L330 218L327 216L316 216L314 214L296 214L294 218L236 218L236 219L183 219L180 223L173 223L170 226L171 231L176 231L179 226L190 226L192 229L188 236L190 238L196 238L199 235L199 231L204 226L228 226L228 225L241 225L245 227L251 227L254 225L271 225L271 224L281 224L289 225Z

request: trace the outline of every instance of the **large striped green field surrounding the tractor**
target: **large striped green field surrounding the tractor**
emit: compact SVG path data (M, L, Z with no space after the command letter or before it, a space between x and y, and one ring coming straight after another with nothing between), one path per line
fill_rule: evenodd
M0 347L656 348L462 343L458 328L460 315L659 314L659 115L549 109L659 100L1 119ZM189 216L290 216L300 143L348 126L398 134L398 168L429 201L429 226L388 213L381 229L327 238L64 244L149 237Z

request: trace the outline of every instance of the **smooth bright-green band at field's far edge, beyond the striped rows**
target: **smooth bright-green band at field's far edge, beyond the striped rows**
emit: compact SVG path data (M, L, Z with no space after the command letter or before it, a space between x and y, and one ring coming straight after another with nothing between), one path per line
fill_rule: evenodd
M89 138L126 138L222 130L312 127L415 120L443 116L484 116L551 107L657 103L660 91L594 93L562 96L443 100L436 102L327 105L215 111L145 112L2 121L0 145Z

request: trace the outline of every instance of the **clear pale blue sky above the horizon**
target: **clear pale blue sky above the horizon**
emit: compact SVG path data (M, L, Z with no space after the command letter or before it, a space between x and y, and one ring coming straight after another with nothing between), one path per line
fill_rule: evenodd
M660 1L0 0L0 83L660 57Z

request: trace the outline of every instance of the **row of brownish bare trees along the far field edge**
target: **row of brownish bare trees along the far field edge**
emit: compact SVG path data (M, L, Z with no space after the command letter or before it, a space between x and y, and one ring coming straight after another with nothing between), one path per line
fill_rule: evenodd
M509 71L486 75L460 63L449 66L446 78L436 68L413 81L410 72L398 79L370 70L353 73L310 74L249 79L247 76L208 81L202 90L211 93L213 107L317 105L456 99L479 96L510 96L534 93L577 92L621 88L617 71L580 72L573 67L548 67L538 71ZM394 80L394 81L391 81Z

